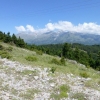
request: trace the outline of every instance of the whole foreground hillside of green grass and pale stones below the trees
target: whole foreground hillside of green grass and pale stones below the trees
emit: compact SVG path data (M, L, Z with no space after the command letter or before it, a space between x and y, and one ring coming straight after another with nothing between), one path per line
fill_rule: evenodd
M100 100L100 72L72 60L51 63L60 58L0 44L12 56L0 58L1 100ZM28 61L30 56L35 60Z

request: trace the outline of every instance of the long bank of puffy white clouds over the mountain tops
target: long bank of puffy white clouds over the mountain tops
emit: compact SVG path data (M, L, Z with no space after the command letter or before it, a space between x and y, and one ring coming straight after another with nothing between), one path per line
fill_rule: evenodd
M42 29L34 29L31 25L15 27L18 32L33 32L33 33L45 33L54 30L61 30L61 31L73 31L73 32L80 32L80 33L91 33L91 34L100 34L100 25L96 23L83 23L74 25L68 21L59 21L57 23L47 23L44 28Z

